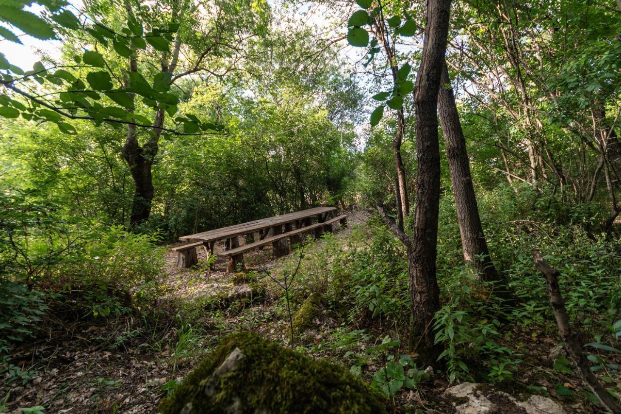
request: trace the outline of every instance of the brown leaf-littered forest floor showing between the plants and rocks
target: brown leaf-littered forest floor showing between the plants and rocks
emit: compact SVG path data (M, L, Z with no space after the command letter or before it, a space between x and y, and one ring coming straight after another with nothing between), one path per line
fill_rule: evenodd
M345 241L355 231L356 224L365 223L367 219L365 212L353 212L350 226L336 232L333 241L346 248ZM307 254L315 254L322 243L323 240L312 244ZM288 318L281 300L282 292L269 277L263 277L267 293L260 303L212 311L197 305L199 298L233 288L232 275L225 273L225 260L218 260L214 269L209 270L200 263L205 259L205 253L199 251L199 265L195 269L181 269L175 265L175 253L168 251L166 280L162 281L166 295L159 304L161 312L157 315L160 316L153 320L125 317L74 324L60 319L50 321L53 328L49 329L47 337L24 344L14 352L11 377L7 374L0 389L0 412L153 413L171 385L183 379L225 334L252 329L265 338L287 343ZM255 270L256 274L278 275L279 270L290 269L296 261L294 253L273 259L270 247L245 255L248 270ZM373 324L363 328L370 335L351 336L351 332L361 332L356 331L361 326L343 328L343 322L320 321L314 337L307 338L304 351L314 357L344 362L345 349L335 343L350 341L360 351L365 345L379 344L387 333L392 334L386 327ZM516 375L519 381L495 387L503 387L515 397L522 395L524 398L526 384L530 384L528 394L541 389L544 395L562 403L565 412L593 412L594 407L585 407L582 398L563 400L556 395L550 368L554 361L551 353L558 345L555 333L538 333L535 338L532 334L515 331L509 333L507 340L521 344L524 369ZM365 380L370 381L372 372L380 367L380 361L369 362ZM564 387L581 387L580 380L571 372L563 378ZM453 412L444 393L448 387L445 375L436 375L419 389L402 392L394 400L396 410L402 412L409 406L424 412ZM511 408L504 412L525 411Z

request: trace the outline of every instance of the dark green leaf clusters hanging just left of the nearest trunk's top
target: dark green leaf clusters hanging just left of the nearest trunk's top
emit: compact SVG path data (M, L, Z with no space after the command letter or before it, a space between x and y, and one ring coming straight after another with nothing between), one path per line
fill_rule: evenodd
M383 13L381 2L373 2L373 0L358 0L358 6L361 10L355 11L349 18L347 42L355 47L368 47L369 59L365 63L365 67L373 60L376 53L381 51L380 42L375 37L376 30L373 26L379 24L381 30L386 32L386 39L397 36L410 37L416 33L417 25L412 16L403 11L401 15L395 15L386 18ZM371 8L374 4L377 4ZM365 28L366 27L366 28ZM373 34L373 39L369 42L369 32ZM409 63L405 63L397 71L394 87L391 91L380 92L373 96L376 101L383 101L384 104L378 106L371 113L371 126L376 126L384 115L384 106L391 109L401 109L403 106L403 96L414 91L414 83L407 80L411 67Z

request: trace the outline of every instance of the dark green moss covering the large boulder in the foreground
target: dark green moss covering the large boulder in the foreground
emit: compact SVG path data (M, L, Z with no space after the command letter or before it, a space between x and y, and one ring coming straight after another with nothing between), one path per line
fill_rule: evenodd
M207 397L205 385L231 352L243 358L232 372L215 382ZM256 333L230 334L160 404L163 414L178 414L191 402L194 412L222 413L237 402L238 412L385 413L386 400L340 366L315 361Z

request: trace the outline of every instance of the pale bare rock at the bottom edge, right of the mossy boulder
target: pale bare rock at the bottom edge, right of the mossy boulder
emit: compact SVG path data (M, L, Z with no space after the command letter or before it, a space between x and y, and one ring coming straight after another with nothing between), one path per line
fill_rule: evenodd
M531 395L526 401L519 401L517 398L506 392L485 389L482 390L479 384L464 382L446 389L446 395L453 401L455 412L459 414L485 414L485 413L507 413L507 414L563 414L563 408L551 400L541 395ZM486 387L487 388L487 387Z

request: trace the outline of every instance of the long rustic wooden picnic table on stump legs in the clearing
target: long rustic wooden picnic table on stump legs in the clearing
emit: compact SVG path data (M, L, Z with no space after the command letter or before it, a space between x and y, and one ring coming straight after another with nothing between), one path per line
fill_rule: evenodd
M187 245L187 247L193 249L194 246L202 244L209 256L214 255L214 244L220 240L226 240L225 254L229 256L229 264L227 270L229 272L235 271L238 264L243 267L243 252L252 247L260 247L265 244L271 243L273 246L273 254L275 257L281 257L289 252L289 244L286 238L291 236L291 244L294 239L297 238L297 232L295 235L289 235L288 232L293 230L293 224L296 224L297 229L303 229L308 227L315 230L315 237L319 237L323 232L324 226L320 223L324 223L329 213L336 211L336 207L314 207L302 211L296 211L294 213L281 214L280 216L263 218L255 221L249 221L248 223L235 224L233 226L227 226L220 229L214 229L209 231L203 231L189 236L179 237L179 240L184 241L196 241ZM313 225L312 219L316 217L317 223ZM284 226L284 231L283 231ZM271 237L266 237L268 231L271 229ZM260 232L260 240L245 246L239 246L238 236L244 234L253 234L254 232ZM184 246L176 247L179 252L178 265L184 265L189 267L196 263L196 250L194 252L183 252ZM175 250L173 249L173 250Z

